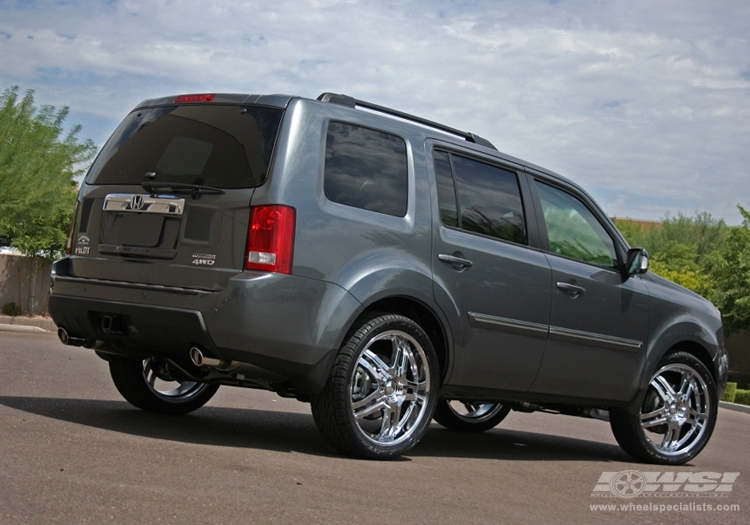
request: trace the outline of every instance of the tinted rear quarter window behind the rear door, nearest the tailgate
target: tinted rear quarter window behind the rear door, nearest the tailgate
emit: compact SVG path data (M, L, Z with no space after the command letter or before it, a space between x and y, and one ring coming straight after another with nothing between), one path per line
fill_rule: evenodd
M328 125L323 184L329 200L403 217L407 175L401 137L343 122Z

